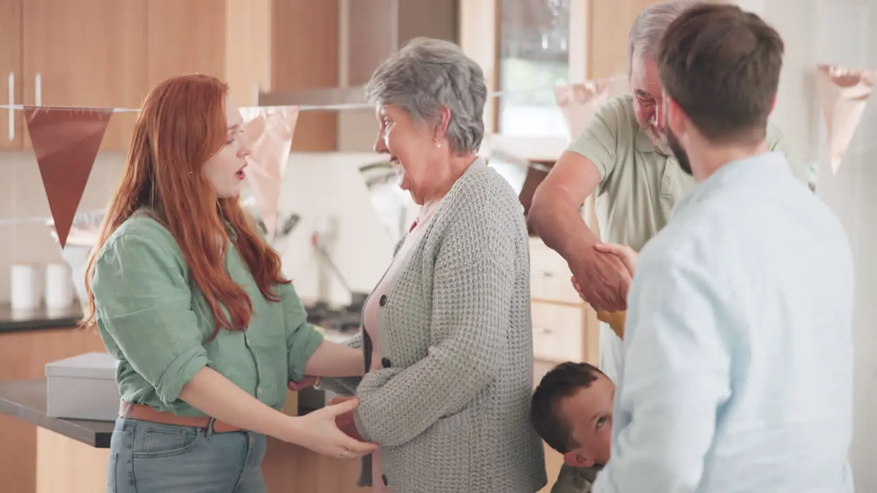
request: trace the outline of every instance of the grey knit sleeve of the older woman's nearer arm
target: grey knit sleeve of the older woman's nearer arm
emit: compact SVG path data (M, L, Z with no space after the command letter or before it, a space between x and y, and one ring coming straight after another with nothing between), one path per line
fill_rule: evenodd
M493 221L496 200L484 197L446 231L432 279L431 330L435 344L408 368L386 368L362 378L353 413L364 439L398 446L439 418L465 408L492 382L503 363L515 289L515 228Z

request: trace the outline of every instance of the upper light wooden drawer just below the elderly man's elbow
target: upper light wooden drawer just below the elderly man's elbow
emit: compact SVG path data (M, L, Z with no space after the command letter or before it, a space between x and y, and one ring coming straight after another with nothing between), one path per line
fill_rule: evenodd
M572 273L567 261L551 248L545 247L541 239L530 241L530 275L530 296L533 299L583 303L570 281Z

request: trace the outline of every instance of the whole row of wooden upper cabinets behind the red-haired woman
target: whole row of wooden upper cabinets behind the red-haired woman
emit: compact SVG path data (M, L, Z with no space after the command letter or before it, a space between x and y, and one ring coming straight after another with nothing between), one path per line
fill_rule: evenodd
M194 72L229 82L240 106L335 87L338 24L339 0L0 0L0 104L139 108ZM114 113L101 150L127 151L137 115ZM21 148L23 112L0 111L0 151ZM303 114L294 148L334 150L335 113Z

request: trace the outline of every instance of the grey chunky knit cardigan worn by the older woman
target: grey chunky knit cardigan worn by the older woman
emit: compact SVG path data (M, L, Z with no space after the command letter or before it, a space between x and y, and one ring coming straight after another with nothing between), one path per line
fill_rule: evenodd
M401 242L400 242L401 244ZM398 246L396 247L398 251ZM524 212L475 161L379 301L381 369L323 388L360 398L362 437L381 445L394 493L532 493L547 482L530 420L530 255ZM367 332L353 339L371 365Z

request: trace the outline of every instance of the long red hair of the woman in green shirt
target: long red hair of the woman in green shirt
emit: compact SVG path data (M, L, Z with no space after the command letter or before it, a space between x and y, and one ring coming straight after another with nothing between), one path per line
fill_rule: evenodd
M256 231L239 197L217 199L201 167L226 145L228 85L209 75L182 75L160 82L146 96L128 153L125 173L107 209L86 270L89 308L83 325L94 325L91 291L95 260L104 243L135 211L147 208L174 236L216 328L242 331L253 314L246 291L225 271L228 240L237 247L263 297L280 301L280 256ZM225 223L231 225L230 235ZM228 315L222 310L228 311Z

